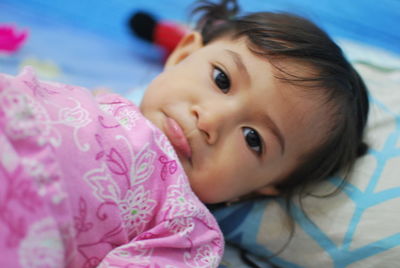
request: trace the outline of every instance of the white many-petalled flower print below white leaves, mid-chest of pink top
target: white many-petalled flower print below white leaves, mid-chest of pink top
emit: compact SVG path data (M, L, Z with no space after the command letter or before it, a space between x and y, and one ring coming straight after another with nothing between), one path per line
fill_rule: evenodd
M152 219L153 209L157 202L150 199L151 192L145 191L143 186L134 191L128 190L124 200L118 204L122 219L129 235L138 235Z

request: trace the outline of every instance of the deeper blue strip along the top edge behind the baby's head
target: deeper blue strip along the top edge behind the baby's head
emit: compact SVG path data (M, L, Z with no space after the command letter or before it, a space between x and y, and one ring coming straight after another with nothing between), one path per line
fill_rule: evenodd
M3 0L4 3L45 15L110 38L130 39L126 20L138 9L188 22L188 0ZM346 37L400 53L398 0L239 0L244 12L289 11L317 22L334 37ZM1 14L0 14L1 15Z

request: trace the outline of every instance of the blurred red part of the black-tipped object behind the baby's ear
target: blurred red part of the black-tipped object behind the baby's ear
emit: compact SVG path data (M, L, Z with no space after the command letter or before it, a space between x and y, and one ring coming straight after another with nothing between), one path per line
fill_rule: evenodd
M154 29L153 42L164 48L169 56L186 33L187 30L177 24L159 22Z

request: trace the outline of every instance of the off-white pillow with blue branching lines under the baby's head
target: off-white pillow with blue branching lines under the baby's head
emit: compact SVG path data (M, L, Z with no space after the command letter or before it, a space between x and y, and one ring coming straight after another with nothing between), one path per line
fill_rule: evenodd
M371 55L369 48L360 49ZM370 150L357 161L344 190L327 198L305 198L306 213L293 204L295 232L288 244L290 227L281 199L217 209L214 215L227 242L258 256L273 256L270 261L281 267L398 266L400 64L396 69L386 62L376 65L377 57L351 59L370 90ZM339 181L331 178L317 192L327 193Z

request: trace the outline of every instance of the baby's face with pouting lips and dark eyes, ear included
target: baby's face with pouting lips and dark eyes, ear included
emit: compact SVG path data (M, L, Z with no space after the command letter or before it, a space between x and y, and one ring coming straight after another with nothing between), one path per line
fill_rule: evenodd
M170 139L203 202L276 193L275 183L321 141L326 112L316 94L277 74L244 39L203 46L193 33L150 84L141 110Z

